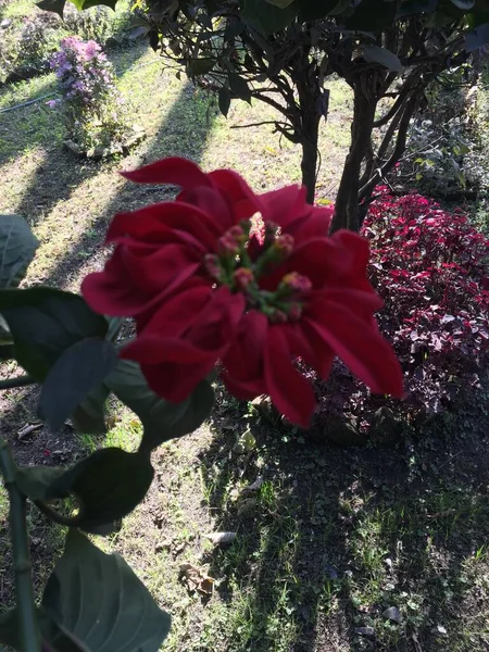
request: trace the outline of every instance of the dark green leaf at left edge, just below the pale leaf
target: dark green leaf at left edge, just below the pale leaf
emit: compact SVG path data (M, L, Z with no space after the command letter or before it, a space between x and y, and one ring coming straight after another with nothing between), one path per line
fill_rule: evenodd
M0 290L0 313L12 333L17 362L39 381L63 351L108 330L106 319L82 297L53 288Z

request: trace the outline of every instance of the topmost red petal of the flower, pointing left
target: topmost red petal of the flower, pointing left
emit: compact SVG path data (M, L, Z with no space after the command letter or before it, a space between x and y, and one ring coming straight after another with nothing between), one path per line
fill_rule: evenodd
M121 174L137 184L171 184L181 188L211 186L208 175L196 163L179 156L162 159L150 165Z

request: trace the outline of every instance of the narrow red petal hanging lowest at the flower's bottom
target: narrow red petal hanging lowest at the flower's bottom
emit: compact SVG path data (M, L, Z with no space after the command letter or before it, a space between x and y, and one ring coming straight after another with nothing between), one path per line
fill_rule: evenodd
M265 381L277 410L303 428L311 423L316 401L308 380L290 360L286 336L280 327L272 326L265 347Z

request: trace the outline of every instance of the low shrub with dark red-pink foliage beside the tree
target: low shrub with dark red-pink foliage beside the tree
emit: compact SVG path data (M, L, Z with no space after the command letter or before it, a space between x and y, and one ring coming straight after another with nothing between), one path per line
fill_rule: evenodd
M363 234L380 327L406 372L409 402L439 412L489 361L489 240L461 210L386 188Z

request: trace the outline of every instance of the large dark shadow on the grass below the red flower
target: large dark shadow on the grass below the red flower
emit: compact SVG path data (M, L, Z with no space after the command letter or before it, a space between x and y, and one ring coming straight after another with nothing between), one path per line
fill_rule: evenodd
M208 560L226 578L215 629L228 650L487 649L487 415L377 449L314 446L253 418L246 455L222 426L236 417L221 411L201 455L215 529L238 532Z

